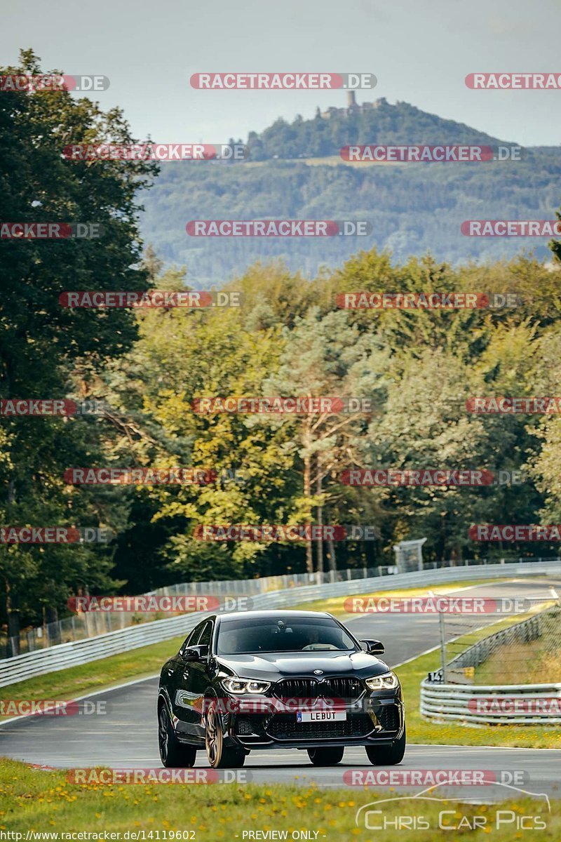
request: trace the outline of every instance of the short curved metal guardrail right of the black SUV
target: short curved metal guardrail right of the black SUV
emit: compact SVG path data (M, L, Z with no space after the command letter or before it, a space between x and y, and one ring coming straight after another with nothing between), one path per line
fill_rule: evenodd
M528 698L558 699L561 684L539 685L445 685L421 681L421 716L434 722L473 722L477 725L558 725L561 717L546 709L532 711ZM477 700L481 700L478 704ZM485 702L483 702L485 700ZM539 705L532 704L532 707ZM551 709L551 706L544 708ZM495 708L495 709L494 709Z

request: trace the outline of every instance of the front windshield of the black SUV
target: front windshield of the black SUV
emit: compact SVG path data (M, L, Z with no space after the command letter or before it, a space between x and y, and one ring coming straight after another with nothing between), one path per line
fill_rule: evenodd
M259 652L356 651L352 637L330 617L232 618L220 623L219 655Z

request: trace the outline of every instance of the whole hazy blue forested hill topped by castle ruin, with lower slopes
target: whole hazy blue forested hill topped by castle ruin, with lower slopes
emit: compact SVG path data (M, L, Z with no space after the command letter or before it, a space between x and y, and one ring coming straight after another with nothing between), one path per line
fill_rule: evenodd
M466 219L554 219L561 204L561 147L524 150L519 162L349 164L341 147L377 143L513 145L407 103L318 110L251 132L247 162L163 163L144 197L142 231L168 263L186 264L198 285L220 284L257 259L283 258L315 274L361 248L395 258L431 251L454 264L534 248L537 238L464 237ZM188 237L194 219L365 219L368 237Z

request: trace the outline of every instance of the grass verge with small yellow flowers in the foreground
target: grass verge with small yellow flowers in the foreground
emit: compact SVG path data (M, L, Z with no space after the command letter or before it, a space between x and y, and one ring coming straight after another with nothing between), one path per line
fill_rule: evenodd
M216 839L240 839L245 831L312 831L309 837L328 842L348 842L351 839L381 839L391 842L403 839L401 830L376 831L358 828L355 814L358 807L377 799L394 796L394 791L321 790L315 786L212 784L203 785L124 785L97 786L69 784L61 771L29 768L13 760L0 761L0 830L22 833L87 831L89 833L119 832L130 834L144 830L145 839L167 839L170 833L182 834L183 839L196 842L215 842ZM460 816L483 816L487 829L469 832L470 842L494 839L506 842L521 837L512 823L496 828L496 809L490 805L468 805L458 802L400 801L403 816L422 815L429 829L417 830L417 842L431 842L439 834L438 813L455 810L442 823L453 830ZM561 837L561 802L552 802L548 815L542 800L524 798L501 802L501 810L512 810L517 816L541 815L547 828L539 831L540 842ZM395 808L388 811L394 817ZM457 817L457 818L456 818ZM445 824L445 826L446 826ZM150 832L152 835L150 836ZM156 835L156 834L159 834ZM453 834L453 839L464 836ZM536 834L534 834L536 835ZM7 837L4 837L7 838ZM48 838L48 837L45 837ZM129 837L134 839L132 835ZM253 839L267 839L266 835ZM274 838L274 837L273 837ZM277 837L278 838L278 837ZM280 837L283 838L282 836ZM295 837L296 838L296 837ZM141 839L141 837L140 837ZM246 836L246 839L248 837Z

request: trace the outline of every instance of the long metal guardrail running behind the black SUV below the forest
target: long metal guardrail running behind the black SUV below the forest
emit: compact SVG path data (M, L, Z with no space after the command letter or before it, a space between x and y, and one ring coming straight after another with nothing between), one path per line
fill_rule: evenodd
M512 574L529 576L536 573L559 574L561 573L561 562L558 560L552 562L521 562L498 564L493 567L477 565L468 568L441 568L415 573L397 573L387 578L351 579L348 582L310 585L294 590L258 594L251 598L251 604L256 609L293 608L295 604L329 599L334 596L368 594L373 591L414 588L418 585L446 584L477 578L505 578ZM98 635L98 637L88 637L85 640L61 643L59 646L41 649L38 652L16 655L15 658L0 661L0 687L33 678L36 675L96 661L99 658L108 658L109 655L129 652L151 643L169 640L171 637L187 635L187 632L190 632L200 620L204 619L204 616L208 616L208 613L198 612L197 614L185 614L166 620L142 623L140 626L107 632Z

